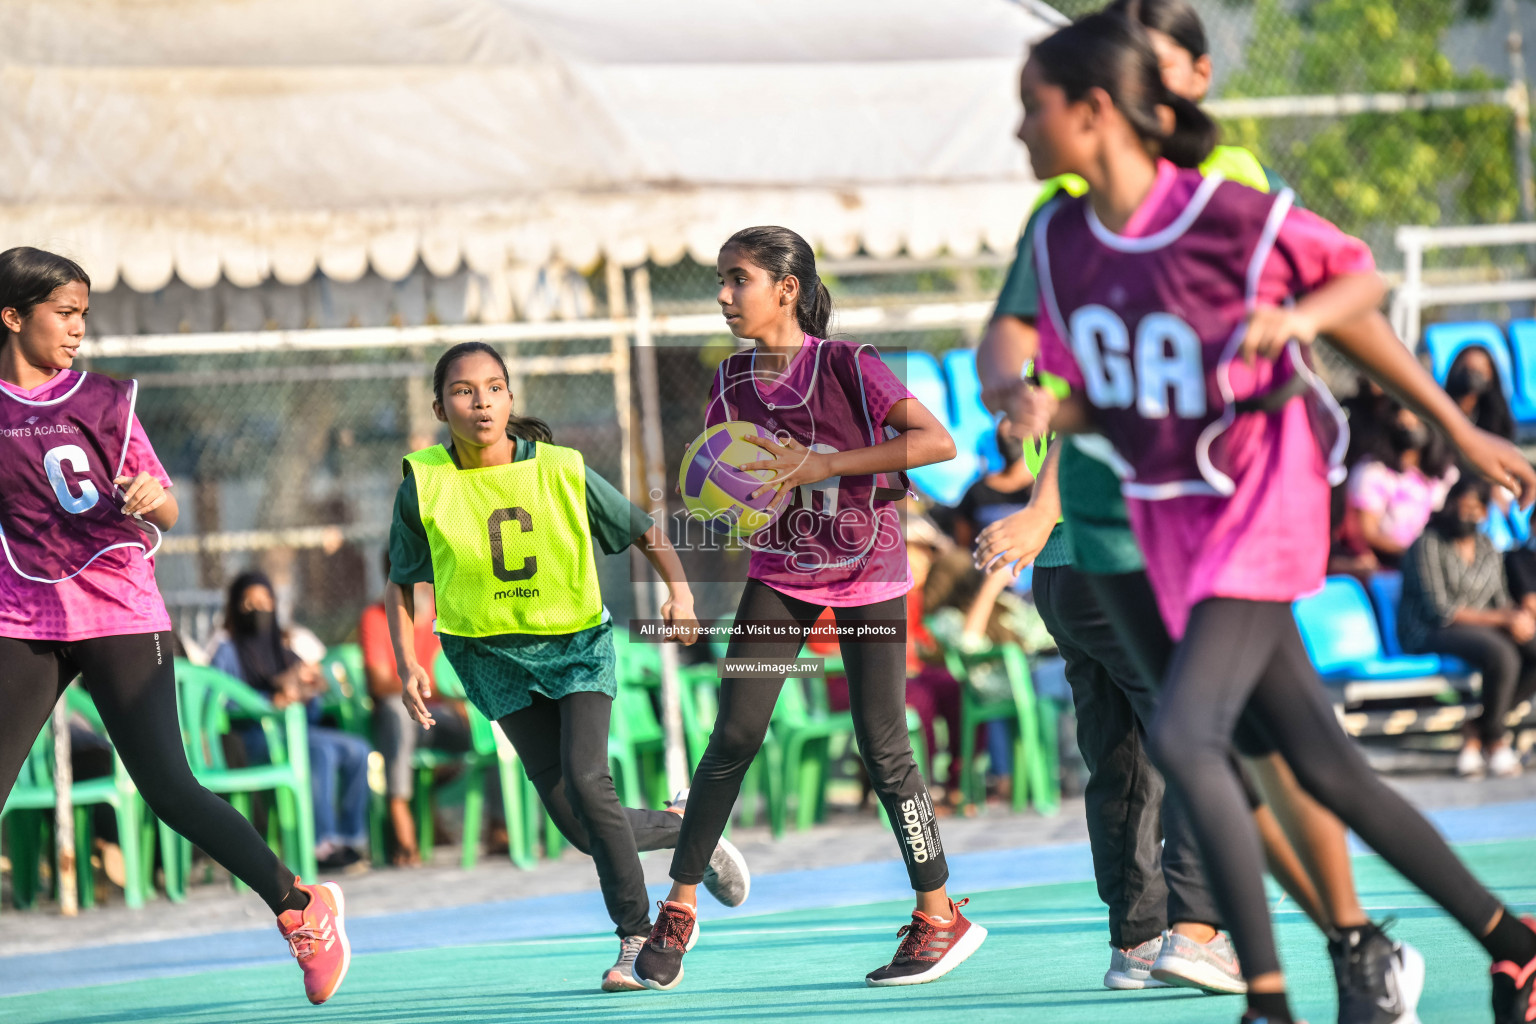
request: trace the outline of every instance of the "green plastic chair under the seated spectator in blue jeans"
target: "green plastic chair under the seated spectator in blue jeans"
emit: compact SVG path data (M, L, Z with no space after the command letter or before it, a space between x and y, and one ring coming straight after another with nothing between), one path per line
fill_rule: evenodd
M283 711L260 692L217 668L177 659L177 699L181 705L181 737L197 780L229 798L250 818L250 797L272 792L276 834L284 863L304 881L315 881L315 801L309 777L309 720L303 703ZM270 763L230 768L221 738L233 722L261 726ZM273 841L273 835L267 837ZM166 895L184 900L192 875L192 843L160 824ZM237 881L238 886L238 881Z

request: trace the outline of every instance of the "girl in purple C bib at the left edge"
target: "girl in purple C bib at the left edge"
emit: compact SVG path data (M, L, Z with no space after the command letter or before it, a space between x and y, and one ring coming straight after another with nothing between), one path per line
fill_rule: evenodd
M74 261L0 253L0 804L80 676L149 809L266 901L324 1003L352 958L341 887L301 884L187 768L151 557L177 499L134 415L138 385L71 368L89 306Z

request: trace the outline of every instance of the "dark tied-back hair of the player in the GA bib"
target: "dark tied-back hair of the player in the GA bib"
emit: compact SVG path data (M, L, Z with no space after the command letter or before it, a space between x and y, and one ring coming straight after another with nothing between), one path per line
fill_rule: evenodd
M1126 5L1135 14L1138 5ZM1180 167L1198 167L1217 146L1217 123L1198 106L1169 92L1138 21L1121 14L1091 14L1035 45L1029 60L1051 84L1078 101L1103 89L1141 141ZM1174 112L1166 130L1158 107Z

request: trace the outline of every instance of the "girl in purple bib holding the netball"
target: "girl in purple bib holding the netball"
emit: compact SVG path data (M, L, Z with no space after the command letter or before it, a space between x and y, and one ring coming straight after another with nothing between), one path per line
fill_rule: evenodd
M720 362L707 424L748 421L776 441L753 439L753 462L779 516L748 539L751 560L727 657L785 660L831 608L840 637L859 752L889 815L917 894L895 958L866 975L871 986L943 976L982 944L986 930L949 900L932 800L906 732L906 591L911 576L894 499L880 487L955 454L945 427L917 402L871 345L825 341L831 296L809 244L785 227L748 227L720 249L719 302L737 338L756 344ZM879 634L889 628L889 636ZM783 679L720 680L719 717L693 775L673 887L662 903L636 975L651 989L682 981L682 958L699 935L696 889L762 746Z

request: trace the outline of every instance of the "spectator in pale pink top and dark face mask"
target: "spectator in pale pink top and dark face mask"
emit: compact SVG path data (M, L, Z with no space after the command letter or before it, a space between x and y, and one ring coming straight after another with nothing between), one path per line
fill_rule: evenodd
M1447 447L1410 410L1393 404L1376 436L1376 451L1350 470L1339 545L1364 571L1396 568L1458 477Z

